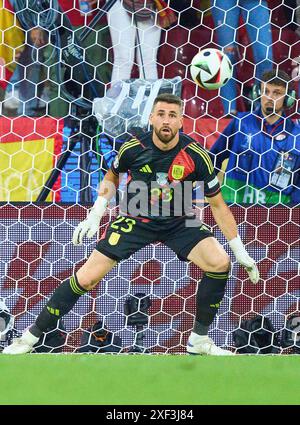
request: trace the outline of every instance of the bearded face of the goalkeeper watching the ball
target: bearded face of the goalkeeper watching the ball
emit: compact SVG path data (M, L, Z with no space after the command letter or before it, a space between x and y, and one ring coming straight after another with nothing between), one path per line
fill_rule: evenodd
M164 145L178 141L179 130L183 123L180 106L174 103L158 102L150 115L150 123L155 136Z

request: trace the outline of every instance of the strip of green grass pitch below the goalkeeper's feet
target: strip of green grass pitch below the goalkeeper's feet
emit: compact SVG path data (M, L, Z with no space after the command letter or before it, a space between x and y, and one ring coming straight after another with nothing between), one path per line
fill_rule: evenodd
M300 404L300 356L0 356L0 404Z

